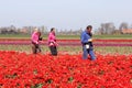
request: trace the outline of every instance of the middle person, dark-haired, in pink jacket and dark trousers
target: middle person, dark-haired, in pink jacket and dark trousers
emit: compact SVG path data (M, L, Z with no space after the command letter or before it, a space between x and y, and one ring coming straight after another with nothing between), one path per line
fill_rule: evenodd
M55 35L55 28L51 29L51 32L48 34L48 46L52 55L57 56L57 46L56 43L56 35Z

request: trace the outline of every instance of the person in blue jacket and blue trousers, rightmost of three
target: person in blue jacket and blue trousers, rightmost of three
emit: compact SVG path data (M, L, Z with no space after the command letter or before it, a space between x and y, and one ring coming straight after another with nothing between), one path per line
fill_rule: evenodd
M92 33L91 33L92 26L88 25L86 30L81 33L80 40L82 44L82 58L87 59L88 54L90 55L91 61L96 59L95 53L94 53L94 45L92 45Z

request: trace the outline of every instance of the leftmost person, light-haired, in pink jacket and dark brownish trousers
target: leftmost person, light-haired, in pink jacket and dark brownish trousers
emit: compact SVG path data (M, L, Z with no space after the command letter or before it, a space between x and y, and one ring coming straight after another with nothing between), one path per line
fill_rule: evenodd
M33 54L41 53L40 41L42 41L41 32L37 29L34 30L32 36L32 52Z

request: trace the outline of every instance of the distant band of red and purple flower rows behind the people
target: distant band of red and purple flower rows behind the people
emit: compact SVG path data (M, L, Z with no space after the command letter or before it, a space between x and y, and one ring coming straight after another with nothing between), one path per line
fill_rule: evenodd
M62 46L79 46L81 45L80 40L57 40L58 44ZM29 45L30 40L11 40L11 38L0 38L1 45ZM47 45L47 41L42 41L43 45ZM132 40L95 40L95 46L132 46Z

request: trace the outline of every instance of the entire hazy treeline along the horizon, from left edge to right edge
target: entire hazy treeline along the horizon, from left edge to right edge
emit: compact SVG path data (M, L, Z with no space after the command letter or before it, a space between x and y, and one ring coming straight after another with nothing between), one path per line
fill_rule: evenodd
M0 34L32 34L33 30L37 28L43 34L48 34L50 30L42 26L23 26L15 28L14 25L0 28ZM58 30L56 29L56 34L59 35L78 35L84 29L77 30ZM127 22L122 22L119 28L114 26L114 23L101 23L100 26L95 30L95 34L132 34L132 25Z

